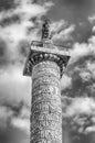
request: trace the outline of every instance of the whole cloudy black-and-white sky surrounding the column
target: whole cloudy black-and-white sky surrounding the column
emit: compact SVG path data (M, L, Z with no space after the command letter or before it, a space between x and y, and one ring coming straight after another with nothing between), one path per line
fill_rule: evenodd
M31 78L22 73L43 15L71 54L61 80L63 143L95 143L95 0L0 0L0 142L30 142Z

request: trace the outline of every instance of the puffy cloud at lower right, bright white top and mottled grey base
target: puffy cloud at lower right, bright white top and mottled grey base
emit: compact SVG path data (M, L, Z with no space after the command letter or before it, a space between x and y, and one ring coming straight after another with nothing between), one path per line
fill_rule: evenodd
M94 132L95 124L95 120L93 120L95 118L94 111L95 101L93 98L74 98L65 108L63 123L66 122L70 124L71 131L76 131L82 134L92 133Z

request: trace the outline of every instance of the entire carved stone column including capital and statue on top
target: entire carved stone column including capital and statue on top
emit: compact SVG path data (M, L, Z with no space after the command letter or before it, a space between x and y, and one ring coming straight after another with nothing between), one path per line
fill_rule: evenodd
M48 41L46 29L32 42L23 73L32 77L31 143L62 143L60 79L70 56Z

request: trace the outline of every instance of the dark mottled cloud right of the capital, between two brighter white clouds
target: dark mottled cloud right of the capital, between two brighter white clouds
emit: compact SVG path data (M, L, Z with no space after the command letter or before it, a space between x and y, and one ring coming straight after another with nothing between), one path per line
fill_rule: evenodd
M85 95L93 97L92 92L88 92L87 88L95 82L95 79L93 78L94 69L91 69L91 72L86 67L87 63L95 63L95 57L91 55L84 56L67 67L66 74L72 77L72 88L63 89L62 95L73 98L83 97Z

